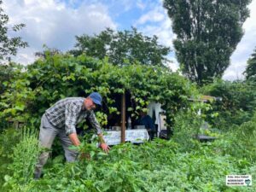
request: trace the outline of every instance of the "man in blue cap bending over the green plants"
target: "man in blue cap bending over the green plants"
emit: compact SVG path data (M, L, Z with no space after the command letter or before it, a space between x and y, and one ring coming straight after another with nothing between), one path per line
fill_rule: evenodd
M67 97L56 102L51 108L47 109L41 119L39 143L43 148L51 148L56 136L60 137L65 157L68 162L76 160L78 151L69 147L79 146L80 141L75 126L84 118L90 120L90 124L96 129L100 138L100 147L108 153L109 147L104 142L102 130L96 120L93 110L96 105L102 105L102 96L93 92L86 98ZM38 164L34 172L34 177L39 178L42 169L49 156L49 152L40 154Z

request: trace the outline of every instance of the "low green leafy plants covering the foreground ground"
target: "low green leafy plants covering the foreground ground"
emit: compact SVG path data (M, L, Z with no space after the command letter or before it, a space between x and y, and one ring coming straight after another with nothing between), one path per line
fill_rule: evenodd
M255 125L255 124L254 124ZM247 126L247 125L243 125ZM248 130L245 136L251 134ZM252 139L255 139L253 134ZM29 138L32 139L32 138ZM236 137L236 141L238 137ZM22 143L24 140L21 140ZM27 140L26 140L27 141ZM79 150L90 153L90 158L75 163L63 163L56 157L45 169L40 180L15 180L5 177L3 189L9 191L253 191L255 187L228 187L228 174L252 174L255 177L255 156L234 156L234 144L222 137L214 143L199 143L196 148L181 151L182 143L156 139L151 143L114 146L109 154L96 148L96 141L82 143ZM238 146L242 146L238 143ZM24 145L17 145L21 150ZM34 148L26 144L27 151ZM230 148L233 148L230 151ZM247 149L253 146L248 146ZM22 151L22 150L21 150ZM237 150L243 154L243 151ZM24 172L26 166L14 155L15 172ZM248 158L248 159L247 159ZM10 164L10 167L13 166ZM23 178L23 177L22 177ZM13 190L12 190L13 189Z

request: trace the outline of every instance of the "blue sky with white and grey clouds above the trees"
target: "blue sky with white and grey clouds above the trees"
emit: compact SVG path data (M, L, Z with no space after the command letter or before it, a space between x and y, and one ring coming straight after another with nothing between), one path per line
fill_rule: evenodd
M256 47L256 0L248 8L251 14L243 24L244 36L223 79L243 79L247 59ZM75 36L98 34L106 27L123 31L135 26L143 35L156 35L159 44L171 47L170 67L173 71L178 68L172 44L176 35L162 0L3 0L3 10L9 15L9 26L26 24L20 32L9 32L9 36L20 36L29 44L13 58L25 65L36 59L35 52L43 50L44 44L67 51L73 49Z

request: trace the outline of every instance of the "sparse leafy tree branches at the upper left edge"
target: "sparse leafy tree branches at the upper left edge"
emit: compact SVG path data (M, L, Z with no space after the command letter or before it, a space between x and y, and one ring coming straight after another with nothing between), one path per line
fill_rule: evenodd
M2 5L3 1L0 0L0 6ZM9 55L16 55L18 48L25 48L28 44L20 37L9 38L8 31L9 31L9 16L3 13L3 9L0 7L0 61L5 59L9 60ZM22 29L25 24L17 24L12 27L12 31L18 32Z

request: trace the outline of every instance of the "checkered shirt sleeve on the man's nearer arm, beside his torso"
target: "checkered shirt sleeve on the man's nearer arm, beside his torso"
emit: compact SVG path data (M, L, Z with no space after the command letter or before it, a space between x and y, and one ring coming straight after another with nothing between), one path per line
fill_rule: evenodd
M79 116L80 107L76 103L68 103L65 109L65 130L66 134L76 133L76 122Z

